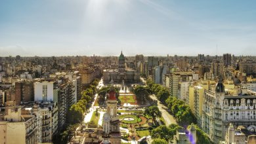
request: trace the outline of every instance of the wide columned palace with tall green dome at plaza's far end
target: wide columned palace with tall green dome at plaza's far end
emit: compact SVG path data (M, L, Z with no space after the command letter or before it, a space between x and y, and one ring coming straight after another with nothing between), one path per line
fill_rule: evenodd
M140 80L140 73L136 72L135 69L125 68L125 56L121 52L118 58L118 69L104 69L103 81L108 82L138 82Z

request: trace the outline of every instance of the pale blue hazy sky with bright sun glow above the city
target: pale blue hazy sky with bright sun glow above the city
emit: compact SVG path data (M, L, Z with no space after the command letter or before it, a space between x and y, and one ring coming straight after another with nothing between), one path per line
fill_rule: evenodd
M0 0L0 56L256 56L256 1Z

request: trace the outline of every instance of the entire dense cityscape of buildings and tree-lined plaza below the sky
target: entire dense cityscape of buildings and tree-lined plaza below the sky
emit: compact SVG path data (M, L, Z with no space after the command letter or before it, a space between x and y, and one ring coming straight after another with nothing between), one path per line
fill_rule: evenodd
M255 143L252 56L0 61L1 143Z

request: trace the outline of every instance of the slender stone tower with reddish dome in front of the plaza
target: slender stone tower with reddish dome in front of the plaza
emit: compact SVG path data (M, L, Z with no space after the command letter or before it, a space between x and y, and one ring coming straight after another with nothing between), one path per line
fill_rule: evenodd
M103 135L111 143L121 143L121 135L119 132L119 117L117 116L117 99L116 92L110 90L107 98L107 112L103 115Z

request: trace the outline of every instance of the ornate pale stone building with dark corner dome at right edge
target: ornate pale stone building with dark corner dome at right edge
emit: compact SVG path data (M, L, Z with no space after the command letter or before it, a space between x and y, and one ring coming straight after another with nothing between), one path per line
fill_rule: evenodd
M219 81L215 91L205 90L203 95L202 130L219 143L224 141L230 126L256 125L256 93L238 89L237 94L225 92Z

